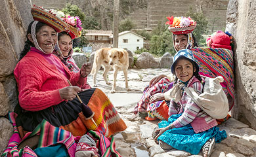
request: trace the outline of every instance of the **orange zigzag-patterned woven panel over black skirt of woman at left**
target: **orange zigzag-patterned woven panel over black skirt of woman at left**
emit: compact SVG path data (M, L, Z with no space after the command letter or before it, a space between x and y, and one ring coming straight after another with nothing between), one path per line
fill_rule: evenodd
M110 137L110 135L127 128L114 105L102 90L96 88L87 105L95 112L93 118L97 124L96 127L92 120L85 120L85 126L88 130L95 130L106 137Z

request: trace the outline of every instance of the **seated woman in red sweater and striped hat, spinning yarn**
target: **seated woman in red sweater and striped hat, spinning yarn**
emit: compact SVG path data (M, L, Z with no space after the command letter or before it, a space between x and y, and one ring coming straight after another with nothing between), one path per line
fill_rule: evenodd
M96 130L109 137L125 130L127 126L101 90L81 90L87 83L91 65L83 64L79 72L74 73L53 55L57 31L66 31L66 23L40 8L32 8L32 16L35 21L28 27L27 41L14 69L22 108L16 117L21 137L27 131L33 131L42 120L70 131L74 136ZM77 94L82 103L77 99ZM98 105L93 117L96 126L92 120L86 119L83 105Z

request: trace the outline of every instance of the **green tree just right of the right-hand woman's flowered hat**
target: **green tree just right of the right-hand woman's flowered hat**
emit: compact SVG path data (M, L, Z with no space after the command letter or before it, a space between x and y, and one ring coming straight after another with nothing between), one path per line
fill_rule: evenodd
M205 39L203 39L202 35L207 34L207 18L202 12L194 12L192 7L186 12L186 16L190 16L190 18L196 21L196 29L194 29L193 33L196 37L196 41L199 42L199 46L202 45L200 43L205 43Z

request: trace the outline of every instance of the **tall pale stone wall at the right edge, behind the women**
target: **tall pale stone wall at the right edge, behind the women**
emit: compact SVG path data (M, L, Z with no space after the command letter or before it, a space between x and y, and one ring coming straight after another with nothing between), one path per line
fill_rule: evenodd
M232 116L256 129L256 1L230 0L226 30L234 35L236 104Z

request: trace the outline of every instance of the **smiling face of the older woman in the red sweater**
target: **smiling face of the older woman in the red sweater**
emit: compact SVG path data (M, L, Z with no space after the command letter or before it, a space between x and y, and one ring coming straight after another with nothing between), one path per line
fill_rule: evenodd
M46 54L51 54L54 50L58 37L53 27L43 26L36 33L36 39L39 47L42 48Z

